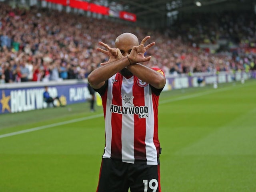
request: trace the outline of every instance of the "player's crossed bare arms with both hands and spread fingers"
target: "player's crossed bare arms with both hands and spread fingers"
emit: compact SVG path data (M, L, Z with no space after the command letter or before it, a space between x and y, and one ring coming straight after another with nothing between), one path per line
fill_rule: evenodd
M88 82L90 83L92 88L101 88L108 78L110 78L125 67L140 80L147 82L154 88L163 88L166 83L165 77L162 74L152 70L151 68L139 64L141 62L147 62L151 59L151 56L144 56L146 50L148 50L155 44L150 43L144 47L146 40L148 40L149 38L150 36L146 36L139 46L132 47L130 54L128 54L127 56L123 56L118 48L110 48L110 46L108 46L107 44L99 42L99 44L104 46L107 50L101 48L97 48L97 50L108 55L109 60L108 62L101 63L102 66L94 70L88 76Z

